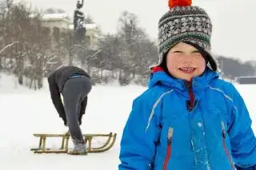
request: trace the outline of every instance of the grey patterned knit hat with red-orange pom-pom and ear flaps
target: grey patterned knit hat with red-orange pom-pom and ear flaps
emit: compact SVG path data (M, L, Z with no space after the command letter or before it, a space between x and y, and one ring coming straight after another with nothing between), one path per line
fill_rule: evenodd
M162 58L179 42L190 42L203 49L207 54L207 66L219 72L218 61L210 52L212 23L206 11L198 6L191 6L191 0L169 0L170 10L158 22L158 64Z

